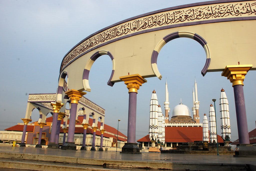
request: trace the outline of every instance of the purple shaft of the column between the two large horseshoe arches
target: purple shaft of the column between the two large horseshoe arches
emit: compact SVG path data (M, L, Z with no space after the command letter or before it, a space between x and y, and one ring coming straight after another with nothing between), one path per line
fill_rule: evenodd
M128 108L128 131L127 143L136 143L136 106L137 106L137 93L129 93L129 108Z

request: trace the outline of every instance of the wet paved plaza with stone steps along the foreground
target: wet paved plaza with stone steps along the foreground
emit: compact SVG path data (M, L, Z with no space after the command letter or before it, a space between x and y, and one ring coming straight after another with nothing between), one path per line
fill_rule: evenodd
M77 167L75 170L79 170L79 167L83 170L85 167L86 170L255 170L256 163L256 158L232 155L122 154L114 151L71 151L7 145L0 145L0 156L0 167L51 170L54 166L61 168L62 171L71 171L72 167ZM36 165L40 165L41 169Z

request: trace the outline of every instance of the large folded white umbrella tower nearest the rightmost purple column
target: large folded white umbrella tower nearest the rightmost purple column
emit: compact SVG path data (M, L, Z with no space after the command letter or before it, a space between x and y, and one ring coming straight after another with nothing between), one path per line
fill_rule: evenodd
M220 90L220 119L222 129L222 138L224 141L230 141L231 139L231 129L230 129L230 120L229 120L229 107L228 99L224 89Z

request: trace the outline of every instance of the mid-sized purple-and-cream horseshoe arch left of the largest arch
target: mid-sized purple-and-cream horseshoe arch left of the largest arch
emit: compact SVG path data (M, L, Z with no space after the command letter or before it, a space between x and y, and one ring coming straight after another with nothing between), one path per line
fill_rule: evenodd
M111 58L112 60L112 73L110 75L110 78L109 78L109 81L108 81L108 85L109 86L113 86L114 85L114 82L111 82L111 79L114 75L114 72L115 72L115 60L114 60L114 57L113 55L108 52L108 51L98 51L98 52L95 52L91 57L90 59L87 61L86 63L86 66L84 68L84 71L83 71L83 87L84 87L84 90L90 92L91 91L91 88L90 88L90 85L89 85L89 72L90 72L90 69L92 67L92 64L94 63L94 61L96 59L98 59L101 55L109 55L109 57Z

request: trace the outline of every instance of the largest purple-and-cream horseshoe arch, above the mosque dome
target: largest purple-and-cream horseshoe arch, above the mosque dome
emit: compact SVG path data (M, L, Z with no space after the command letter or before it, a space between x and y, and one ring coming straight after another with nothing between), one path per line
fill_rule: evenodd
M210 61L211 61L211 58L210 58L210 52L209 52L209 47L207 45L207 42L206 40L204 40L204 38L202 38L200 35L196 34L196 33L191 33L191 32L185 32L185 31L177 31L177 32L174 32L174 33L171 33L167 36L165 36L162 40L160 40L153 52L152 52L152 56L151 56L151 66L152 66L152 69L155 73L155 75L159 78L159 79L162 79L162 75L160 74L160 72L158 71L158 68L157 68L157 56L160 52L160 50L164 47L164 45L166 43L168 43L169 41L173 40L173 39L176 39L176 38L181 38L181 37L186 37L186 38L190 38L190 39L194 39L195 41L197 41L198 43L201 44L201 46L204 48L205 50L205 53L206 53L206 62L205 62L205 66L204 68L202 69L201 73L202 75L204 76L207 72L207 69L210 65Z

